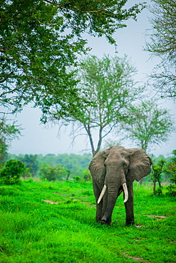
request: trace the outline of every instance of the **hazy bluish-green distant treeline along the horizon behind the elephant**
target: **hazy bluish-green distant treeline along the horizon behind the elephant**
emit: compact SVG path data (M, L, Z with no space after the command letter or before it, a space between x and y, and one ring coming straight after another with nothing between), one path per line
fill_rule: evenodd
M154 163L160 161L160 159L164 159L167 162L170 162L171 157L165 158L165 156L160 155L158 157L151 156ZM60 167L60 172L64 173L65 176L62 178L66 178L69 174L69 178L83 178L85 176L86 170L88 170L88 166L90 160L92 159L91 154L47 154L46 156L40 155L32 155L32 154L20 154L14 155L9 154L8 160L15 159L17 161L22 161L27 168L29 168L29 173L31 176L42 176L43 167L53 167L58 168ZM65 170L62 169L62 167ZM62 171L63 170L63 171ZM162 175L162 181L167 181L168 175ZM144 178L144 181L150 181L150 178Z

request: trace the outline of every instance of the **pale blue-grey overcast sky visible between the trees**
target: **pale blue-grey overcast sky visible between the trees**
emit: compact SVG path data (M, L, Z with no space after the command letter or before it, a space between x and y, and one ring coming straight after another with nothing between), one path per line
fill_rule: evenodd
M130 3L132 1L129 1ZM133 1L133 3L139 1ZM148 3L149 1L147 1ZM147 81L147 75L150 75L152 69L158 62L157 58L150 59L150 53L143 51L145 47L145 41L147 34L150 33L148 29L151 25L148 21L150 13L147 9L143 10L142 14L138 15L138 21L127 21L128 27L122 28L114 35L116 42L118 43L118 56L123 57L124 54L128 55L132 63L135 64L138 69L138 75L135 76L135 80L145 83ZM88 46L92 48L90 53L102 58L104 54L115 56L115 48L110 45L105 38L93 38L88 36ZM162 107L170 109L172 118L176 117L176 104L172 100L160 101ZM90 149L88 140L85 136L78 136L74 144L71 145L71 127L61 129L58 136L58 127L48 127L40 123L41 111L40 109L33 109L32 105L24 108L23 112L16 115L17 124L21 124L23 130L18 140L14 140L9 148L11 154L83 154L84 152L90 153L91 151L83 151L84 149ZM113 140L119 138L112 135ZM123 141L122 146L126 148L135 147L135 144L129 143L129 141ZM170 136L170 140L167 144L161 146L154 146L150 149L150 154L159 156L163 154L168 156L176 149L176 135L175 133Z

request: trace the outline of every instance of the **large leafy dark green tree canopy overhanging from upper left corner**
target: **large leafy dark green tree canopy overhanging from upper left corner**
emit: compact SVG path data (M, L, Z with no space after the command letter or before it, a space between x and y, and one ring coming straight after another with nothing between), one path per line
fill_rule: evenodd
M112 36L136 19L144 4L128 0L1 0L0 101L14 111L34 102L43 111L57 105L62 114L79 108L74 73L78 54L88 51L83 33Z

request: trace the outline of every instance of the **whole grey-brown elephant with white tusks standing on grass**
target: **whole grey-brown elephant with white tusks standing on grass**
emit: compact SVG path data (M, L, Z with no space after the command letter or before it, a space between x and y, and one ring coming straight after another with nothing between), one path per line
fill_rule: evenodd
M126 225L135 224L133 181L140 181L151 172L152 161L143 149L112 146L99 151L90 161L96 200L96 222L111 225L115 202L123 192Z

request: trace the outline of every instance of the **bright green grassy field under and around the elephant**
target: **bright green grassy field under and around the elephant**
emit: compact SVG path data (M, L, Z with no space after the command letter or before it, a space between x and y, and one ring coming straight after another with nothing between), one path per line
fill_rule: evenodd
M92 184L24 181L0 188L0 262L176 262L176 205L135 183L135 226L123 196L113 224L95 222Z

